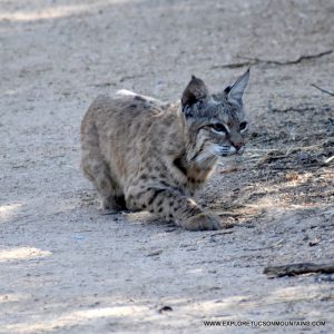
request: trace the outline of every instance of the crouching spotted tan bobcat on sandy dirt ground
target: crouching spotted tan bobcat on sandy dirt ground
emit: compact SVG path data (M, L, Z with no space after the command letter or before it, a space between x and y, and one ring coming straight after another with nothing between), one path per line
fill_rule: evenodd
M189 230L222 228L191 196L219 157L244 151L248 79L249 69L210 95L193 76L175 105L124 90L98 97L81 124L81 167L102 208L149 210Z

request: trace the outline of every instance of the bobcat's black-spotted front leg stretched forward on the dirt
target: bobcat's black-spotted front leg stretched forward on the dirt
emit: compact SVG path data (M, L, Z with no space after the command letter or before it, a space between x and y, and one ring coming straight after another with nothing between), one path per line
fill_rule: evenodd
M136 191L132 188L128 191L126 200L131 209L147 209L189 230L220 228L217 216L204 213L191 198L178 190L148 187Z

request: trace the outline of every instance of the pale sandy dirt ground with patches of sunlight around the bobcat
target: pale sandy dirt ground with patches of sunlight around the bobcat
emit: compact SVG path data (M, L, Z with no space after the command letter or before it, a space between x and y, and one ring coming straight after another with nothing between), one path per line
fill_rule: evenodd
M331 0L0 0L0 333L333 331L334 274L263 273L334 258L334 97L311 86L334 90L333 18ZM173 101L191 73L218 91L249 65L247 151L197 196L234 227L101 215L79 169L91 100Z

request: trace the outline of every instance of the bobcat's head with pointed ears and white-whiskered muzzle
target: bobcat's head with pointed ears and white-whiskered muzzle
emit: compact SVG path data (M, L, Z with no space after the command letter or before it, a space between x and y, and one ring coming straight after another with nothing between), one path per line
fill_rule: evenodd
M212 95L203 80L191 77L179 109L188 161L205 167L217 157L244 151L248 126L243 94L248 79L249 69L223 92Z

